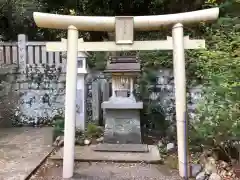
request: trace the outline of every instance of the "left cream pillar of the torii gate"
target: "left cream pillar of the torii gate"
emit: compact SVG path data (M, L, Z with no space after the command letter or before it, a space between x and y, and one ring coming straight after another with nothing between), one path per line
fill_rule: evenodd
M63 149L63 178L71 178L74 170L76 125L78 30L70 25L67 35L67 69L65 95L65 125Z

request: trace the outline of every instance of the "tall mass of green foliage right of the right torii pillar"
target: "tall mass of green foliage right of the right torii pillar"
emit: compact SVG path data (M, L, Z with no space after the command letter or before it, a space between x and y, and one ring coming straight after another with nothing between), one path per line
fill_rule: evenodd
M220 18L205 27L207 49L189 52L195 62L195 75L205 85L191 140L220 145L240 139L240 31L239 18ZM197 60L195 60L197 58Z

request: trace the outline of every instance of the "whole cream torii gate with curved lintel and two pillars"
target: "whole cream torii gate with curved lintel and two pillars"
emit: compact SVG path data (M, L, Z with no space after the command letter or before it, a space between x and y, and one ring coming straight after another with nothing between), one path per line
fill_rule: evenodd
M183 24L216 20L218 15L219 8L179 14L135 17L69 16L34 12L34 20L39 27L68 30L67 42L49 42L46 44L48 51L67 51L63 178L71 178L74 169L78 51L134 50L173 50L179 174L181 177L187 177L184 49L204 48L205 41L190 40L189 37L184 37ZM160 30L162 26L172 26L172 37L161 41L134 41L134 31ZM113 42L80 42L78 41L78 30L115 31L116 37Z

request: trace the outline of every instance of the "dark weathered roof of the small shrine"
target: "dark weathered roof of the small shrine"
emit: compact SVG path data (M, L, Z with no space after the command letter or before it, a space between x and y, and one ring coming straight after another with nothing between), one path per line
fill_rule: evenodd
M141 66L139 59L132 56L109 57L104 72L140 72Z

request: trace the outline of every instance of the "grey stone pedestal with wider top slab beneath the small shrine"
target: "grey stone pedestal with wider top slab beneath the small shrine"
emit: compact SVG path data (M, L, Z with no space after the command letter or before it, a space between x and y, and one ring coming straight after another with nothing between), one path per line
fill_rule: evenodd
M140 109L142 102L128 97L111 97L102 103L106 112L104 143L141 144Z

